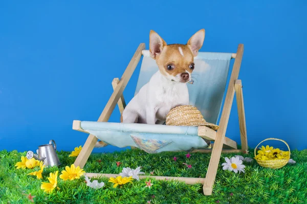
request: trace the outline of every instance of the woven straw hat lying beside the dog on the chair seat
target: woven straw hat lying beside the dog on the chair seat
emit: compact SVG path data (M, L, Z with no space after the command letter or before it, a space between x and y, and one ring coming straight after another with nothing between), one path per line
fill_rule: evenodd
M213 130L219 128L218 125L207 123L201 111L192 105L182 105L171 109L166 116L166 125L207 126Z

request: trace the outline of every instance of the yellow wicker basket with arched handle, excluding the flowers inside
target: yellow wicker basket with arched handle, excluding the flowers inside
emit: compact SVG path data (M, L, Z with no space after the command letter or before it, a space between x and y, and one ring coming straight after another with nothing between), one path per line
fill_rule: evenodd
M289 160L290 160L290 147L289 145L286 143L286 141L283 141L283 140L280 140L280 139L276 139L276 138L268 138L268 139L265 139L263 141L261 141L255 148L255 157L256 157L256 149L257 147L262 143L262 142L265 142L267 140L277 140L277 141L281 141L283 142L284 144L287 145L288 149L289 149L289 157L287 158L283 158L281 160L256 160L256 162L261 166L261 167L266 167L266 168L270 168L270 169L279 169L283 166L285 166L286 164L288 164Z

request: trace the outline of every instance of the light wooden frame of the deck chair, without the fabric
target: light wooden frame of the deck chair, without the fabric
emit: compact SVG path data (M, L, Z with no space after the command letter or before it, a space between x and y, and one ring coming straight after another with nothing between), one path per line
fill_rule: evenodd
M109 117L111 116L116 104L122 112L125 108L125 101L123 98L123 91L126 87L131 75L134 73L136 66L138 65L141 56L142 50L145 49L145 43L141 43L136 50L133 58L130 60L125 72L123 73L121 79L115 78L112 82L114 92L110 99L108 100L105 108L103 109L98 122L107 122ZM214 141L212 149L203 149L203 150L194 150L200 152L211 152L210 162L207 170L207 174L205 178L190 178L190 177L168 177L168 176L140 176L140 178L152 177L155 179L177 179L184 181L186 184L195 184L201 183L203 185L203 191L205 195L211 195L212 189L217 173L218 164L220 162L220 157L223 152L240 152L247 151L247 132L246 132L246 122L245 122L245 111L244 111L244 102L243 102L243 92L242 92L242 82L238 80L238 74L240 70L240 65L243 57L244 45L239 44L236 53L232 54L232 58L235 58L232 73L230 76L230 81L228 84L227 94L223 106L222 116L220 120L220 128L217 131L214 131L206 126L199 127L199 136L211 141ZM226 138L225 133L227 129L227 124L230 116L230 110L234 98L234 93L236 93L236 101L238 108L238 118L239 118L239 128L240 128L240 139L242 149L237 149L237 144L235 141ZM80 127L80 121L73 122L73 129L78 131L84 131ZM87 138L85 144L83 145L82 150L77 156L74 165L83 168L87 159L89 158L91 152L94 149L94 146L98 139L95 135L90 134ZM106 145L106 144L105 144ZM223 149L224 147L230 147L232 149ZM106 176L106 177L116 177L118 174L102 174L102 173L86 173L89 177L97 177L97 176Z

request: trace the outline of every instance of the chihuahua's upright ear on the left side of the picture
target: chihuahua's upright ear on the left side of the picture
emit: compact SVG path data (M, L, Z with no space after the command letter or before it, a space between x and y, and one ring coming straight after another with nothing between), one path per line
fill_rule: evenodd
M166 42L156 33L151 30L149 34L149 52L150 57L156 59L157 55L159 55L163 48L166 46Z

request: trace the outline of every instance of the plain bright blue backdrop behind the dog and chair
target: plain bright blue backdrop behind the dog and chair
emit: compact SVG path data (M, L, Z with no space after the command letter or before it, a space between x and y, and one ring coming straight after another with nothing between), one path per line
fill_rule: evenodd
M269 3L270 2L270 3ZM52 1L0 3L0 150L83 145L73 120L95 121L150 29L186 43L205 28L201 51L236 52L244 43L248 142L276 137L307 148L306 1ZM137 67L137 71L140 64ZM135 73L124 91L134 94ZM236 101L227 137L239 141ZM119 122L116 107L110 121ZM114 151L108 146L95 152Z

